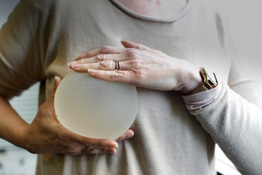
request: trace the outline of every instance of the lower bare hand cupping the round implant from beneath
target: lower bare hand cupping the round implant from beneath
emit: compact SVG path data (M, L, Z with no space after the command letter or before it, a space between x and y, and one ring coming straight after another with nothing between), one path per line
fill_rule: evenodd
M118 148L116 141L133 136L133 131L128 130L117 140L95 139L78 135L63 127L54 111L54 94L60 81L60 78L55 78L55 86L50 96L26 129L22 147L32 153L70 155L116 153Z

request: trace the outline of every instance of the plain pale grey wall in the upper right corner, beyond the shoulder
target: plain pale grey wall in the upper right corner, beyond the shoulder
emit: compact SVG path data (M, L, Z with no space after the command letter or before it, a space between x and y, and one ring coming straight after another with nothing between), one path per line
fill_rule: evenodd
M249 73L262 82L262 0L217 0L217 3L227 16L240 59Z

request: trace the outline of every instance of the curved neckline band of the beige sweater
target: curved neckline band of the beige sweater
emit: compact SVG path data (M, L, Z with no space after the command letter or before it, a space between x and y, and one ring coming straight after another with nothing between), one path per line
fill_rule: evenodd
M161 22L161 23L172 23L175 22L177 20L179 20L180 18L182 18L190 9L191 6L191 1L192 0L186 0L186 5L185 7L178 13L174 14L174 16L170 17L170 18L157 18L157 17L151 17L151 16L147 16L147 15L143 15L137 12L132 11L131 9L127 8L126 6L124 6L122 3L120 3L118 0L110 0L115 6L117 6L119 9L121 9L122 11L124 11L125 13L129 14L130 16L137 18L137 19L141 19L144 21L151 21L151 22Z

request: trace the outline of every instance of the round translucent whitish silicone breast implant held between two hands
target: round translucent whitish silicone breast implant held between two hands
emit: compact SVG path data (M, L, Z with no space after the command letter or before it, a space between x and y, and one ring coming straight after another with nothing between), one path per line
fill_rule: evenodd
M70 131L116 139L131 127L138 98L131 85L71 72L56 90L54 107L58 120Z

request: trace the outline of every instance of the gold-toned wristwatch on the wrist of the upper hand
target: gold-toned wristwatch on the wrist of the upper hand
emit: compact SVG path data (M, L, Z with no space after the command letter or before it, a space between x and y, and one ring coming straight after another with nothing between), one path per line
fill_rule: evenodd
M216 88L218 86L218 80L217 80L217 77L216 77L214 72L213 72L213 74L214 74L215 81L212 80L212 78L209 76L209 74L207 73L207 71L205 70L204 67L200 68L199 73L202 77L203 84L199 88L197 88L196 90L191 92L190 95L198 93L198 92L210 90L210 89Z

